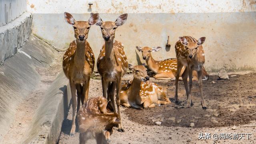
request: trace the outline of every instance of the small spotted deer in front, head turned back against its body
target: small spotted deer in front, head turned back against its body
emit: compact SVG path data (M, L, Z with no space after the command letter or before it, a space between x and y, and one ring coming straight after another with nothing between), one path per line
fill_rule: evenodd
M102 96L90 98L79 110L77 118L80 144L90 138L96 139L97 144L110 143L112 128L120 123L112 102Z

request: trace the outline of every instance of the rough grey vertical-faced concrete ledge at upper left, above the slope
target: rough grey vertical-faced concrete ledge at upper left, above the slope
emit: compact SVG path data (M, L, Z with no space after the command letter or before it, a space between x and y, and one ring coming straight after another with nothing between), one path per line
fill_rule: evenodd
M5 26L0 27L0 63L14 55L31 34L32 15L24 12Z

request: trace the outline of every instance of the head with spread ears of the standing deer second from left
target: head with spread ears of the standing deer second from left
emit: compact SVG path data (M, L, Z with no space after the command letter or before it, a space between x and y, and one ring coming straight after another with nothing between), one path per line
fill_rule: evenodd
M105 41L114 40L116 28L118 28L118 26L122 26L126 22L127 16L128 14L122 14L115 22L103 22L102 19L99 18L96 25L100 26L102 37Z

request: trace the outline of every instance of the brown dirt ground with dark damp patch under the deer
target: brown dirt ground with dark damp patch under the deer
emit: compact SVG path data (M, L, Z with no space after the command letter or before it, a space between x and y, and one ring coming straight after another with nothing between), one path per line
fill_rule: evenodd
M132 79L132 75L126 75L124 80ZM200 103L200 92L197 82L192 88L192 108L186 108L186 95L182 81L179 81L179 103L173 102L174 81L154 80L162 86L171 104L161 105L155 108L136 110L121 108L122 122L125 132L118 132L114 128L111 136L113 144L170 144L170 143L232 143L245 144L256 143L256 114L243 116L256 112L256 74L235 75L230 80L218 80L217 76L210 76L210 80L203 82L206 110ZM91 80L89 96L101 96L102 87L100 80ZM71 104L70 104L70 107ZM72 108L62 125L59 144L78 144L79 133L74 137L69 136L72 120ZM242 117L240 117L242 116ZM160 126L154 122L161 121ZM194 126L191 127L190 124ZM235 130L232 130L233 126ZM241 126L242 125L242 126ZM211 139L198 140L198 133L210 133ZM250 133L249 140L213 140L213 134ZM94 140L90 144L96 143Z

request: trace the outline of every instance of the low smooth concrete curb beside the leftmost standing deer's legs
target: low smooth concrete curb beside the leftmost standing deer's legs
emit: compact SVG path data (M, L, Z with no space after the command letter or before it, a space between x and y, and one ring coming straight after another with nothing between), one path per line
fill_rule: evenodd
M68 83L63 72L54 80L32 118L32 124L25 136L25 144L56 144L58 142L62 122L68 112L71 99Z

